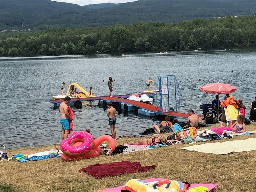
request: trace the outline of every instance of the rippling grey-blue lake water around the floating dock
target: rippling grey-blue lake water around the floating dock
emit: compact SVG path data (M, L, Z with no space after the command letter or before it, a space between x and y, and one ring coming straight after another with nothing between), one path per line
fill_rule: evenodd
M154 89L158 75L175 74L183 96L180 111L185 113L190 108L201 113L199 105L214 99L215 95L201 92L201 86L229 83L237 87L232 95L243 100L248 118L256 96L255 52L221 52L0 58L0 145L10 149L59 143L60 114L49 100L60 94L60 84L74 81L85 90L92 86L93 92L102 96L108 95L109 76L116 79L113 95L119 95L145 90L149 77ZM220 95L220 100L223 97ZM89 128L94 137L110 133L107 109L99 107L98 101L74 109L74 115L74 130ZM139 133L161 120L136 112L119 111L116 117L117 136Z

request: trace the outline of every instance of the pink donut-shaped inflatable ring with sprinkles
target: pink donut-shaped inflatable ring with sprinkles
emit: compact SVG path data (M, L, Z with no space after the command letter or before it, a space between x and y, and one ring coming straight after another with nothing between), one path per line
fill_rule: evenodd
M93 147L92 136L84 131L76 131L60 142L61 151L68 156L81 156Z

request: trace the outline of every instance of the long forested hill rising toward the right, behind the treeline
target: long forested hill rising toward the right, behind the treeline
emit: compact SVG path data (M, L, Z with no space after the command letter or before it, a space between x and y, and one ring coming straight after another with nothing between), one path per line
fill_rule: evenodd
M35 28L175 22L227 15L254 15L256 1L247 0L140 0L89 12L63 13L35 23Z

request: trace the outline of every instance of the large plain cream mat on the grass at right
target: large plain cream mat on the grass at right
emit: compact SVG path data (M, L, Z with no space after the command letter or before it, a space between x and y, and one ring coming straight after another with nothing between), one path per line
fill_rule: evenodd
M200 153L213 153L215 155L228 154L231 152L243 152L256 150L256 138L250 138L245 140L233 140L225 141L223 143L205 143L202 145L193 145L189 147L183 147L189 151L197 151Z

